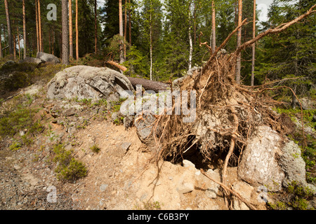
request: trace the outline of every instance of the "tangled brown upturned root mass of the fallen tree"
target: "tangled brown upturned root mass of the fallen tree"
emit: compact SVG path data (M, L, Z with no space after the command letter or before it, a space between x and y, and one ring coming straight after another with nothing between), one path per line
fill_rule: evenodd
M157 125L154 125L157 128L152 131L157 144L157 151L153 157L156 162L162 158L169 158L169 160L172 158L173 161L176 161L178 158L183 158L183 155L192 148L195 148L197 153L200 153L208 162L218 162L220 155L225 155L225 162L220 167L222 168L223 183L207 177L218 183L225 190L225 195L229 196L228 193L231 193L249 208L256 209L234 190L225 186L225 174L229 165L238 165L249 137L256 134L259 126L270 126L280 134L285 134L284 130L287 128L279 123L279 115L272 111L272 106L279 104L279 102L269 96L268 90L276 90L286 86L273 87L272 84L282 82L282 80L256 87L238 85L235 82L237 55L264 36L281 32L290 25L303 20L315 12L313 10L315 7L316 5L312 6L307 13L291 22L259 34L230 55L218 55L219 50L239 29L237 27L220 47L212 52L202 72L194 73L183 80L181 90L195 90L197 92L196 120L193 123L183 123L185 116L169 116L166 113L157 118ZM245 23L246 20L242 22L242 25ZM201 43L201 45L207 47L207 43ZM291 91L294 93L293 90ZM173 114L174 111L175 107L173 106ZM202 173L206 175L204 172Z

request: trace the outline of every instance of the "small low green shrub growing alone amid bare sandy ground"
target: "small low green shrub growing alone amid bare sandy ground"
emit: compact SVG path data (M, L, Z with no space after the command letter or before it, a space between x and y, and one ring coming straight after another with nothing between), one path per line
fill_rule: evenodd
M58 180L76 181L88 174L84 163L73 158L72 151L65 150L63 145L56 145L53 152L55 153L53 162L58 164L55 169Z

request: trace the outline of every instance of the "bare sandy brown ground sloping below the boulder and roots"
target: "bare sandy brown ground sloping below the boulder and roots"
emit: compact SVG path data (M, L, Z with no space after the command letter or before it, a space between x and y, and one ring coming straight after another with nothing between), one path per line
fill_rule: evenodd
M158 172L157 165L149 163L152 153L138 139L135 127L125 130L114 125L103 116L102 108L90 103L48 101L45 88L33 85L22 90L24 95L33 94L30 107L39 108L34 118L44 131L32 138L32 144L14 151L9 148L17 137L1 141L0 209L228 209L219 187L195 165L165 161L159 163ZM57 144L84 162L85 178L71 182L56 178L51 158ZM91 146L98 146L100 152L91 151ZM219 170L213 169L210 172L219 181ZM237 167L229 167L227 181L229 186L241 183ZM247 187L249 200L265 209L256 190L246 186L245 193ZM49 201L53 194L57 202Z

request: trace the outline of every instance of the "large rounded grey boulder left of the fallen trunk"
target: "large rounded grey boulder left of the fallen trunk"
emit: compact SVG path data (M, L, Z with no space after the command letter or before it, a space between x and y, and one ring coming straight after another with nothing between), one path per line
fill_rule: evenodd
M133 92L123 74L108 68L73 66L60 71L48 83L48 99L107 99L117 102Z

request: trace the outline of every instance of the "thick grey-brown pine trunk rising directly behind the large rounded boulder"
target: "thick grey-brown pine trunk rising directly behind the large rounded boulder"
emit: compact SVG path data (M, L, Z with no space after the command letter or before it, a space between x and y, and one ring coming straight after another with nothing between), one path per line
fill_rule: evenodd
M62 0L62 64L69 64L68 0Z

